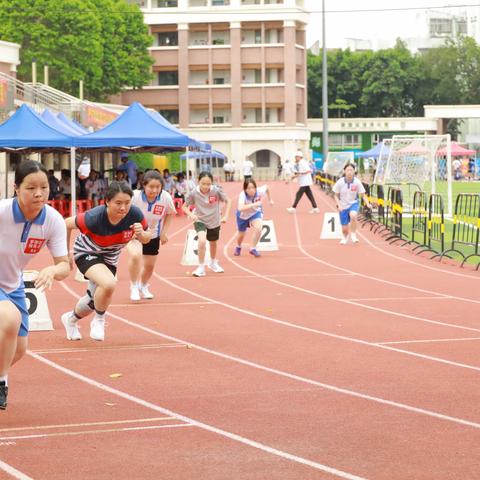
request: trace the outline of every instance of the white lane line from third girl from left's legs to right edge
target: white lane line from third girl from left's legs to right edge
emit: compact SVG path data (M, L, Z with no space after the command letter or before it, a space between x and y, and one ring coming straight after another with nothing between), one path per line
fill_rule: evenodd
M288 328L293 328L293 329L301 330L301 331L304 331L304 332L315 333L317 335L322 335L322 336L325 336L325 337L335 338L337 340L344 340L344 341L347 341L347 342L358 343L360 345L366 345L368 347L373 347L373 348L381 348L383 350L388 350L388 351L391 351L391 352L401 353L403 355L408 355L408 356L411 356L411 357L421 358L423 360L428 360L428 361L437 362L437 363L443 363L445 365L450 365L450 366L460 367L460 368L466 368L466 369L469 369L469 370L475 370L477 372L480 372L480 367L476 367L474 365L468 365L468 364L465 364L465 363L453 362L451 360L445 360L444 358L434 357L432 355L425 355L425 354L422 354L422 353L411 352L409 350L403 350L401 348L389 347L388 345L380 345L379 343L367 342L366 340L360 340L358 338L347 337L345 335L337 335L335 333L326 332L326 331L318 330L318 329L315 329L315 328L305 327L303 325L290 323L290 322L287 322L287 321L284 321L284 320L279 320L277 318L269 317L267 315L262 315L260 313L253 312L251 310L245 310L243 308L236 307L236 306L231 305L229 303L224 303L224 302L221 302L220 300L214 300L213 298L205 297L204 295L200 295L200 294L195 293L191 290L183 288L180 285L177 285L173 282L170 282L169 280L165 280L163 277L161 277L160 275L158 275L155 272L154 272L154 276L156 278L158 278L160 281L166 283L167 285L170 285L173 288L181 290L182 292L189 293L193 297L205 298L205 299L208 298L208 300L211 301L212 303L215 303L217 305L225 307L229 310L233 310L235 312L239 312L239 313L249 315L249 316L252 316L252 317L255 317L255 318L261 318L262 320L266 320L267 322L275 323L277 325L283 325L283 326L288 327ZM69 287L66 286L65 284L63 284L62 286L65 289L67 289L68 291L70 291L70 293L73 292L73 290L70 290ZM76 295L75 292L73 292L73 294ZM168 336L163 336L163 337L164 338L172 338L172 337L168 337Z

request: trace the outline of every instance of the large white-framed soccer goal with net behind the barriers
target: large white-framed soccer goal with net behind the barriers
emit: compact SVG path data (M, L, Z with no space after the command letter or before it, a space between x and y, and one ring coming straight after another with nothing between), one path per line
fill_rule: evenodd
M394 135L385 161L378 159L375 183L402 189L405 211L411 211L415 191L442 195L445 214L452 215L450 135Z

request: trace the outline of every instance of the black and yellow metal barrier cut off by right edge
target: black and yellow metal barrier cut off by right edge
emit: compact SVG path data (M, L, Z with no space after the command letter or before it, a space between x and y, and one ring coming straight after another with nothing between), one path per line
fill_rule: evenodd
M461 266L472 257L480 257L480 194L461 193L455 202L455 213L453 215L452 244L448 250L442 251L439 255L447 256L448 253L457 253L463 260ZM465 251L459 250L463 247ZM477 265L480 266L480 262Z

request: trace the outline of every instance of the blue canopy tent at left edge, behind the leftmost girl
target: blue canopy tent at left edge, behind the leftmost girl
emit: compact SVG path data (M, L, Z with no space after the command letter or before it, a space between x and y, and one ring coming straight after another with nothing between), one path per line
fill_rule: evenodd
M6 152L31 150L70 149L70 171L75 178L74 136L67 135L47 123L27 105L22 105L8 120L0 125L0 149ZM8 171L8 170L7 170ZM5 195L8 191L8 176ZM75 188L72 188L75 206Z

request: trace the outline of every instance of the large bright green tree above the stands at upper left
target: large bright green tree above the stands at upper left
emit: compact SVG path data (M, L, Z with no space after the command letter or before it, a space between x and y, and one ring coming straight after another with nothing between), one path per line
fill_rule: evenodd
M83 80L91 100L150 79L148 30L124 1L0 0L0 38L22 46L20 79L31 80L36 59L49 65L53 87L77 95Z

